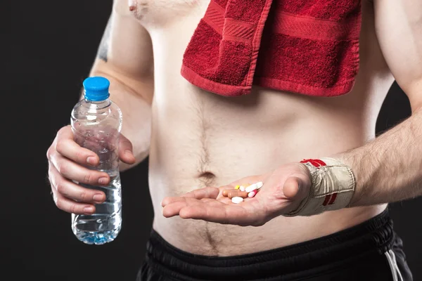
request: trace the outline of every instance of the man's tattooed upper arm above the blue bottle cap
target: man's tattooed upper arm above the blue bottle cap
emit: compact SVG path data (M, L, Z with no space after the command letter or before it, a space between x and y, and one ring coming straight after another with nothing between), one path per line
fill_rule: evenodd
M132 91L153 83L153 47L146 29L129 11L127 1L115 0L113 11L98 46L91 75L106 74ZM150 87L151 88L151 87ZM151 100L150 96L145 97Z

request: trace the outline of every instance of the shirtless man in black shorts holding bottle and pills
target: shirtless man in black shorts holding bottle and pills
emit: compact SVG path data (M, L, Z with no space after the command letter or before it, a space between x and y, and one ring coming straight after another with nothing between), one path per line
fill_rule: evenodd
M149 155L155 216L139 280L412 280L387 204L422 195L421 1L362 2L359 73L336 98L259 86L237 98L203 91L180 69L209 1L127 2L115 0L90 74L110 80L122 109L122 170ZM375 138L394 79L412 115ZM71 180L107 184L107 174L84 167L98 157L69 126L47 157L57 207L91 214L104 195ZM309 194L300 160L318 157L352 169L350 205L285 216ZM245 181L264 182L260 204L215 200L212 187Z

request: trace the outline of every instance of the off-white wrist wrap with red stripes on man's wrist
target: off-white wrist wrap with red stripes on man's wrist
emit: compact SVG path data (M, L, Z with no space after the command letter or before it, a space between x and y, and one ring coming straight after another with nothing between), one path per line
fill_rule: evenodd
M283 216L312 216L349 206L356 188L349 166L333 158L307 159L302 163L311 176L309 195L298 209Z

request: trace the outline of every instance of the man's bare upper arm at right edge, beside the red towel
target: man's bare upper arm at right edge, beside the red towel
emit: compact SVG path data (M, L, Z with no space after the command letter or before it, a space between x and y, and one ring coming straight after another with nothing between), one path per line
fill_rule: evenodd
M412 110L422 107L422 1L374 0L378 41Z

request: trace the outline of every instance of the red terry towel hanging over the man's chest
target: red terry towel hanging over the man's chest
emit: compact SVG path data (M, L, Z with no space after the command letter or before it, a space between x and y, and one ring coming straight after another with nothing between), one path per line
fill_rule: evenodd
M343 95L359 70L361 8L360 0L211 0L181 74L223 96L252 84Z

